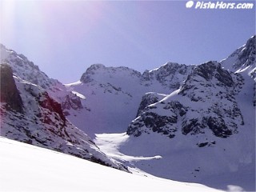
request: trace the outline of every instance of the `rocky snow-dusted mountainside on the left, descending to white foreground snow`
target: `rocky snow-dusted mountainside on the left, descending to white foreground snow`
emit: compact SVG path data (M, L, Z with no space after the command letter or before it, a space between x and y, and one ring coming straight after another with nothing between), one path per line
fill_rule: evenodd
M3 50L2 53L4 53ZM38 67L30 65L25 57L19 58L14 52L11 55L13 60L5 59L3 61L6 64L0 65L1 135L125 170L123 166L106 157L106 154L98 149L90 137L66 119L61 104L49 94L58 90L54 86L61 85L61 83L48 78ZM18 59L24 62L17 62ZM13 74L12 69L19 65L21 68L14 70L16 72ZM30 70L32 73L26 77L26 73ZM19 77L19 74L24 75L22 78L26 80ZM34 74L37 74L38 79ZM48 90L47 86L54 88ZM66 93L69 92L66 91ZM64 103L69 101L67 97L70 95L74 94L67 94Z

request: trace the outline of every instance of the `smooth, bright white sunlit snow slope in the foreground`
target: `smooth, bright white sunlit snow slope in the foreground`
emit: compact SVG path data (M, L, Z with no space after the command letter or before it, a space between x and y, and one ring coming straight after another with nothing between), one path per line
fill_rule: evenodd
M219 191L145 178L7 138L0 138L1 191Z

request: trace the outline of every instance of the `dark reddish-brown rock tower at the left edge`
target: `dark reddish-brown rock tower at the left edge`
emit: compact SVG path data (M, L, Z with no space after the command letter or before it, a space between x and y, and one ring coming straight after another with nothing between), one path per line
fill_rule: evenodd
M7 109L10 108L11 110L22 113L22 98L18 93L11 67L7 64L1 64L0 70L1 102L6 102Z

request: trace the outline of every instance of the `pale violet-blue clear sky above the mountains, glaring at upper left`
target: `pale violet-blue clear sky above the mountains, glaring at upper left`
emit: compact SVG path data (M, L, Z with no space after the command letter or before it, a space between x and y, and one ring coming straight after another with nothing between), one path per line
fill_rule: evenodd
M220 61L255 34L255 2L240 2L254 9L189 9L186 1L0 0L0 43L63 83L77 82L95 63L143 72L166 62Z

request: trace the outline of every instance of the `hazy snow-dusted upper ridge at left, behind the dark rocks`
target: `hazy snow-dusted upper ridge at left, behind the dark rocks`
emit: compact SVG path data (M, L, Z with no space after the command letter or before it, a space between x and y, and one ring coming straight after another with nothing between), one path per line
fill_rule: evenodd
M8 63L14 75L18 76L18 78L47 90L50 97L62 104L63 110L70 108L78 110L82 108L79 103L80 98L76 94L67 91L66 87L61 82L58 82L58 80L49 78L23 54L18 54L14 50L7 49L2 44L0 44L0 63Z

